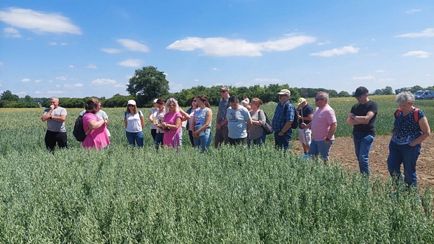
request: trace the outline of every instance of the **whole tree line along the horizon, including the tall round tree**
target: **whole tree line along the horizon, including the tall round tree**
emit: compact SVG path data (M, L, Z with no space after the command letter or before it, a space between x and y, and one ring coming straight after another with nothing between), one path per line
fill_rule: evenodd
M142 69L137 69L134 72L134 76L130 78L126 91L130 94L127 96L115 94L109 99L104 96L99 97L104 107L118 108L127 106L127 101L134 99L137 101L139 107L152 107L152 101L156 98L169 98L174 97L179 101L180 106L190 106L190 99L193 96L200 94L207 95L211 106L218 106L218 101L221 98L220 95L221 86L204 87L198 85L197 87L191 87L188 89L182 89L180 92L169 92L169 81L166 80L166 75L162 71L158 71L156 67L144 66ZM289 89L291 92L290 100L295 103L300 97L309 98L315 97L318 92L328 92L330 97L349 97L352 94L341 91L337 92L334 89L324 88L297 88L289 87L288 84L270 84L270 85L253 85L250 87L232 87L230 88L230 94L238 97L247 96L248 98L258 97L264 103L277 100L277 92L281 89ZM414 87L401 87L395 89L395 94L403 91L417 92L419 90L434 90L434 86L421 87L415 85ZM371 93L372 95L387 95L393 94L392 87L386 86L384 89L376 89ZM69 98L59 97L59 104L64 108L83 108L87 99L90 96L84 98ZM27 95L24 98L20 98L18 95L13 94L9 90L3 92L0 96L0 108L38 108L50 106L50 99L45 97L35 97Z

